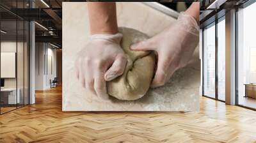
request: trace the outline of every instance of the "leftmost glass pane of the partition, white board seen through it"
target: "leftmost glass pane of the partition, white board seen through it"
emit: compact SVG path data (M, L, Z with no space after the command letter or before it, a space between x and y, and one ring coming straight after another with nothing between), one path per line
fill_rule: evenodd
M16 109L17 21L1 21L1 114ZM4 31L4 32L3 32ZM18 94L19 95L19 94Z

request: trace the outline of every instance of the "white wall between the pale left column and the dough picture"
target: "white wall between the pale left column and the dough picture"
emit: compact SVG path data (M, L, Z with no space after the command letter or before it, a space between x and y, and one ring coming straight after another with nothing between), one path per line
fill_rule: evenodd
M49 89L50 79L56 77L56 49L53 49L48 43L36 43L36 58L35 58L35 89L44 90ZM52 62L49 63L49 57ZM49 64L52 64L49 65ZM52 72L49 69L52 67Z

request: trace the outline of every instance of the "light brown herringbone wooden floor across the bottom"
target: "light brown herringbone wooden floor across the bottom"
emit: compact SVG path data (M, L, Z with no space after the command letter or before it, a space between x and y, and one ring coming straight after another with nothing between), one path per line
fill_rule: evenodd
M58 87L0 116L0 142L256 142L256 112L204 97L196 114L62 112Z

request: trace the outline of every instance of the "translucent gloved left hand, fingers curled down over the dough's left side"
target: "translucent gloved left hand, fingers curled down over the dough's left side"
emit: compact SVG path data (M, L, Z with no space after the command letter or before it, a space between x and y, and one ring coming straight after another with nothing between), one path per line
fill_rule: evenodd
M76 77L83 87L104 99L108 98L106 81L122 75L127 57L120 47L122 34L95 34L79 52Z

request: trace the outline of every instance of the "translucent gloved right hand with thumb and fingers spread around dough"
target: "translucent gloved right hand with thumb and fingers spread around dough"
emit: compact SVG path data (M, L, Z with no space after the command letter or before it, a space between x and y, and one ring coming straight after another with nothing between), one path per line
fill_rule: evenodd
M177 21L163 32L131 46L132 50L157 52L157 70L151 87L163 86L176 70L186 66L198 45L198 35L196 20L180 13Z

